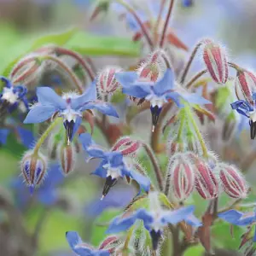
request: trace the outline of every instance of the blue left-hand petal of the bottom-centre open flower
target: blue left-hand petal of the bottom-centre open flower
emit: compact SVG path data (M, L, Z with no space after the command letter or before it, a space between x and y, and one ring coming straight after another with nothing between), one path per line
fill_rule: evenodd
M114 218L113 222L108 226L107 234L119 233L125 230L129 230L131 226L136 222L137 216L132 215L128 218Z

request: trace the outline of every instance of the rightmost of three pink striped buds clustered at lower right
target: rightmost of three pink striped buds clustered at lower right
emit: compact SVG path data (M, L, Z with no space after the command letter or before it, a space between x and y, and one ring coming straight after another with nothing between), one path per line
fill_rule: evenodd
M227 195L232 198L247 197L247 182L235 166L219 164L219 177L221 185Z

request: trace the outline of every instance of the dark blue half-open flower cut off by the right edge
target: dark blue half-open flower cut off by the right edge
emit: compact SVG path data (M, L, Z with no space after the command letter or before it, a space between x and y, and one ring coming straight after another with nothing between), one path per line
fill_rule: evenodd
M255 100L256 93L253 93L253 105L244 100L236 101L230 104L231 108L236 109L237 113L240 113L241 115L246 116L249 119L249 125L251 127L251 139L254 139L256 136Z

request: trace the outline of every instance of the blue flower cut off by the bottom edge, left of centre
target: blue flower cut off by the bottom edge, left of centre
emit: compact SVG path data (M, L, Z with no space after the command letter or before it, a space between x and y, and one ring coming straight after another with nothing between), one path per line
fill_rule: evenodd
M96 250L90 245L87 245L82 241L78 232L68 231L66 232L66 238L69 246L74 253L79 256L109 256L110 253L107 250Z

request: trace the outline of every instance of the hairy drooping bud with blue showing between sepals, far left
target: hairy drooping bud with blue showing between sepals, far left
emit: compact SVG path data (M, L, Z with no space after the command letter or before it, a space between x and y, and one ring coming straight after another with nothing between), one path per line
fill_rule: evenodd
M47 170L47 159L41 153L28 151L21 160L21 172L31 193L44 180Z

